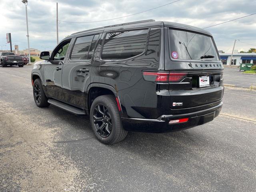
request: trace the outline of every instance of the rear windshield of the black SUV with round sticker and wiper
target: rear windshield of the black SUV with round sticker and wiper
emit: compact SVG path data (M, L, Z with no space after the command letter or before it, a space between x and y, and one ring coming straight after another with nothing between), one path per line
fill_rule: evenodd
M169 29L170 57L179 60L218 61L212 38L206 35ZM202 56L212 58L202 58Z

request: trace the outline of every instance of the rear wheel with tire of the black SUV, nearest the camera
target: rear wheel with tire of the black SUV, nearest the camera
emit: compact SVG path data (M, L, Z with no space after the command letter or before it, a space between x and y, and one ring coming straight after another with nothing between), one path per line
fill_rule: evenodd
M98 96L92 102L90 122L96 138L104 144L120 142L128 133L122 127L116 100L112 95Z

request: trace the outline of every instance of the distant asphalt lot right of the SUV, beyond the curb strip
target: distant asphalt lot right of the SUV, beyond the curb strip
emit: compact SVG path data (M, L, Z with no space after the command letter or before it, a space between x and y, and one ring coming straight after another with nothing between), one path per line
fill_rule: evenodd
M239 68L225 68L224 82L230 86L248 88L256 86L256 74L243 74Z

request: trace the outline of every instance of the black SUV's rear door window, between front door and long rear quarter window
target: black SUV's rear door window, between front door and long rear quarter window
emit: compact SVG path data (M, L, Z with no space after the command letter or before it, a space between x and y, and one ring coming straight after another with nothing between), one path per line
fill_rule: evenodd
M92 48L92 45L95 46L96 44L96 42L93 44L95 38L97 38L96 36L98 37L98 35L78 37L74 44L70 59L71 60L90 60L90 58L92 58L92 54L94 51L94 47ZM90 53L89 57L87 57L88 53Z

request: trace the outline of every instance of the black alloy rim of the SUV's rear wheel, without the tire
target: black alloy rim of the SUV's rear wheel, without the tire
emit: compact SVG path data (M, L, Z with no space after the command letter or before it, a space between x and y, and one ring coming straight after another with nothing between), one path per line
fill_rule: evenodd
M94 128L101 137L108 137L112 131L112 118L108 108L98 104L93 112Z

